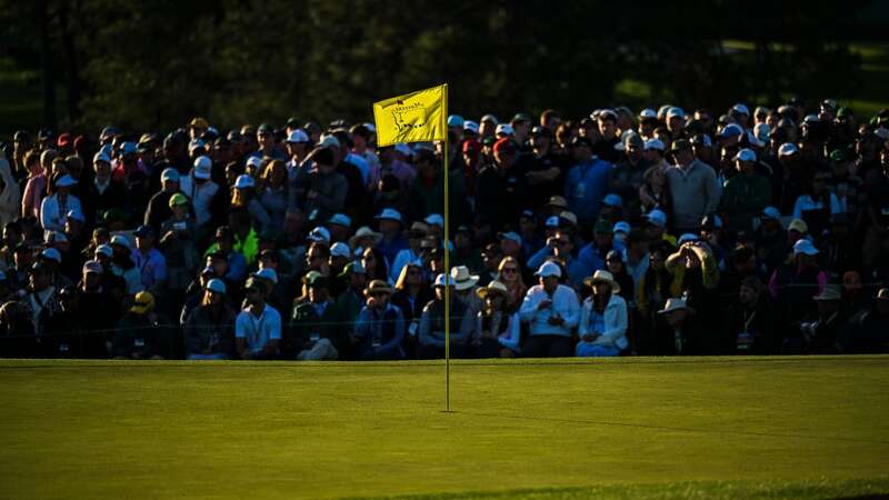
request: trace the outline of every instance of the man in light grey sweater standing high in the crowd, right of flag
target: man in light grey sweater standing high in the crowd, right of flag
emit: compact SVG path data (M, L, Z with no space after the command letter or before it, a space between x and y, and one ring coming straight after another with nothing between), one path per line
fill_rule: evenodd
M716 172L695 158L686 139L676 140L671 151L676 164L666 173L673 200L673 224L678 232L696 232L703 216L713 213L719 206Z

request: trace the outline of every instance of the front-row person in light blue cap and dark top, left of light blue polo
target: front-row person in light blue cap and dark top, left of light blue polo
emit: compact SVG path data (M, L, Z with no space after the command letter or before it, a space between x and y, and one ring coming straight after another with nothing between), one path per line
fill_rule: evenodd
M201 304L191 310L183 326L186 359L233 358L234 318L226 301L226 282L218 278L208 280Z

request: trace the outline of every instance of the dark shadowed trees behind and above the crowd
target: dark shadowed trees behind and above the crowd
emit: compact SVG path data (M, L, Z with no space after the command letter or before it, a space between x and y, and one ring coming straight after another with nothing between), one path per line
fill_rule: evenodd
M46 122L161 130L194 114L368 119L372 101L440 82L467 116L841 98L859 83L860 3L0 0L0 23L6 56L66 98ZM753 56L725 50L731 38Z

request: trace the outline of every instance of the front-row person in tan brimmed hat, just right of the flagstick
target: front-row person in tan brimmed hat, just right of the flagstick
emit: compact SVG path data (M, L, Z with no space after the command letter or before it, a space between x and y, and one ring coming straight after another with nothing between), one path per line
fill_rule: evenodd
M521 321L518 312L507 308L507 286L491 281L476 293L485 301L485 307L477 314L477 357L516 358L520 352Z

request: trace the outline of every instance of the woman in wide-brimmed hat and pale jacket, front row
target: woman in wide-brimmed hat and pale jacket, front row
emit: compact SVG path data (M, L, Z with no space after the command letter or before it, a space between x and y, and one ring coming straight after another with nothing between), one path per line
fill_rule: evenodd
M620 284L608 271L596 271L583 284L592 289L592 296L583 301L580 310L577 356L599 358L620 354L629 347L627 301L619 296Z

